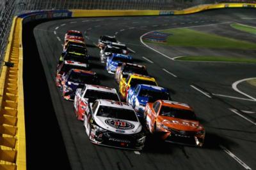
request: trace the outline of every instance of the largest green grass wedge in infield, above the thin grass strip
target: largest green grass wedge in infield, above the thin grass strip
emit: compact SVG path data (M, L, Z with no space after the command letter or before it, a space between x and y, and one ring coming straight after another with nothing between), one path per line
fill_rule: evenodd
M225 38L215 34L207 34L204 32L194 31L188 28L168 29L161 31L170 33L166 43L157 43L170 46L193 46L203 48L239 48L239 49L255 49L256 44L248 41L239 41L237 39ZM154 41L146 41L156 43Z

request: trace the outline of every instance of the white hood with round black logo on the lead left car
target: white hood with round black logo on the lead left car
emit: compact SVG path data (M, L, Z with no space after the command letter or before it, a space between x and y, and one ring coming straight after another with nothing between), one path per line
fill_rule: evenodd
M111 132L120 134L136 134L141 131L140 122L133 122L129 120L122 120L116 118L97 117L95 122L102 128Z

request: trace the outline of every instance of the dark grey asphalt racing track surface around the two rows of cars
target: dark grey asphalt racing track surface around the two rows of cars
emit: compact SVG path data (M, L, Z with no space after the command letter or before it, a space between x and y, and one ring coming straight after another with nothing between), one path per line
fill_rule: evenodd
M252 122L255 122L253 112L256 111L256 103L232 89L235 81L256 77L255 64L173 61L140 42L140 36L146 32L172 27L231 21L255 25L255 16L256 10L252 9L225 9L193 15L70 18L25 25L28 169L46 169L49 166L58 169L255 169L256 128ZM61 44L69 29L84 33L88 52L92 56L92 70L99 74L102 85L116 89L118 85L114 76L108 74L104 64L100 63L99 49L93 43L97 43L100 35L108 34L116 35L119 41L127 44L135 52L131 53L135 62L145 64L159 85L170 89L173 101L188 103L194 108L206 129L204 147L163 143L152 136L148 136L145 149L139 153L90 143L83 123L76 120L73 103L61 98L60 90L54 83ZM246 93L255 94L253 88L250 89ZM252 113L242 113L241 110Z

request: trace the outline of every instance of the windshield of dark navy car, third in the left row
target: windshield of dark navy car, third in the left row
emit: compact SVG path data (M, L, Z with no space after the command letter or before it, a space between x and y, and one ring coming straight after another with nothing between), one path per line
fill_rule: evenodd
M97 77L93 75L75 72L72 72L72 74L70 74L70 76L68 77L68 81L92 85L97 85L98 83Z

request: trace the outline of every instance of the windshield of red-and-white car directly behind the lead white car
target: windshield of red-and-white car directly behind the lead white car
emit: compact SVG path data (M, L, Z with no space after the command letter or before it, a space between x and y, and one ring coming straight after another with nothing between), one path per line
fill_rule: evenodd
M103 92L99 90L86 90L86 93L84 94L84 98L88 98L90 103L92 103L97 99L108 99L113 101L119 101L117 94L110 93L110 92Z

